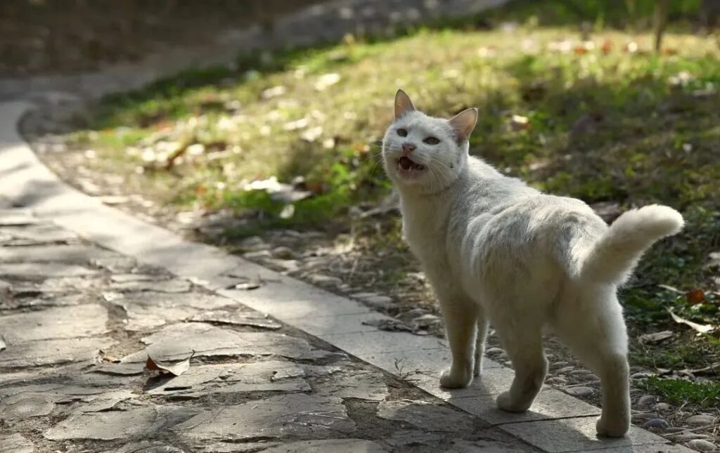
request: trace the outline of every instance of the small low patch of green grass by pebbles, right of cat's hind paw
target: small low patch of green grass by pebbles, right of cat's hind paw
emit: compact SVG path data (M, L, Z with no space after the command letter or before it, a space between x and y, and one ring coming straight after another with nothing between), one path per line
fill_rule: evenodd
M670 404L692 403L703 408L720 406L720 383L695 383L689 380L649 377L637 383L640 388L661 395Z

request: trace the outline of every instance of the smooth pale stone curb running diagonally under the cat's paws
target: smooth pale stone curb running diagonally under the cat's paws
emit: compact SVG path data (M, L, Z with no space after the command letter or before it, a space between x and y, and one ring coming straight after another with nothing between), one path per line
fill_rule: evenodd
M499 411L495 396L510 386L513 371L485 359L482 379L470 388L444 390L440 370L449 362L444 339L366 326L390 319L357 301L281 275L216 247L187 242L178 235L135 219L70 188L40 163L17 132L31 104L0 104L0 194L14 206L34 211L81 237L148 265L188 278L257 311L294 326L472 413L488 424L545 452L691 452L649 431L632 427L625 439L598 439L600 409L554 388L544 388L527 413ZM264 282L256 290L236 290L236 275Z

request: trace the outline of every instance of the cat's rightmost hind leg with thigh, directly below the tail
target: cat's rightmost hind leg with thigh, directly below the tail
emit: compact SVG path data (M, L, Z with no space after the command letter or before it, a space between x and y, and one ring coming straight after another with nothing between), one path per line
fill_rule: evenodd
M590 370L600 377L603 414L600 436L621 437L630 429L630 379L627 332L616 288L583 288L580 297L564 301L554 329Z

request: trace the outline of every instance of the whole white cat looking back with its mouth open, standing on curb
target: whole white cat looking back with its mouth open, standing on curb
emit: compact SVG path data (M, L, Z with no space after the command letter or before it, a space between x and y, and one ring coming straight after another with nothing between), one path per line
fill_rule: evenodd
M427 116L400 90L383 140L405 238L445 320L452 365L440 385L465 387L480 374L492 323L516 370L498 406L526 411L547 372L541 333L548 327L602 381L598 434L624 436L629 367L616 290L644 250L683 228L683 217L645 206L608 227L582 201L546 195L471 157L476 122L477 109Z

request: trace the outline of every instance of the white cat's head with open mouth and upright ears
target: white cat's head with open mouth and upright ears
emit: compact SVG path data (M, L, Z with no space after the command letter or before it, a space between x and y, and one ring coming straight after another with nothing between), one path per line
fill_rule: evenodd
M441 191L466 167L468 139L476 122L477 109L463 110L451 119L427 116L398 90L395 121L382 140L387 175L401 189Z

